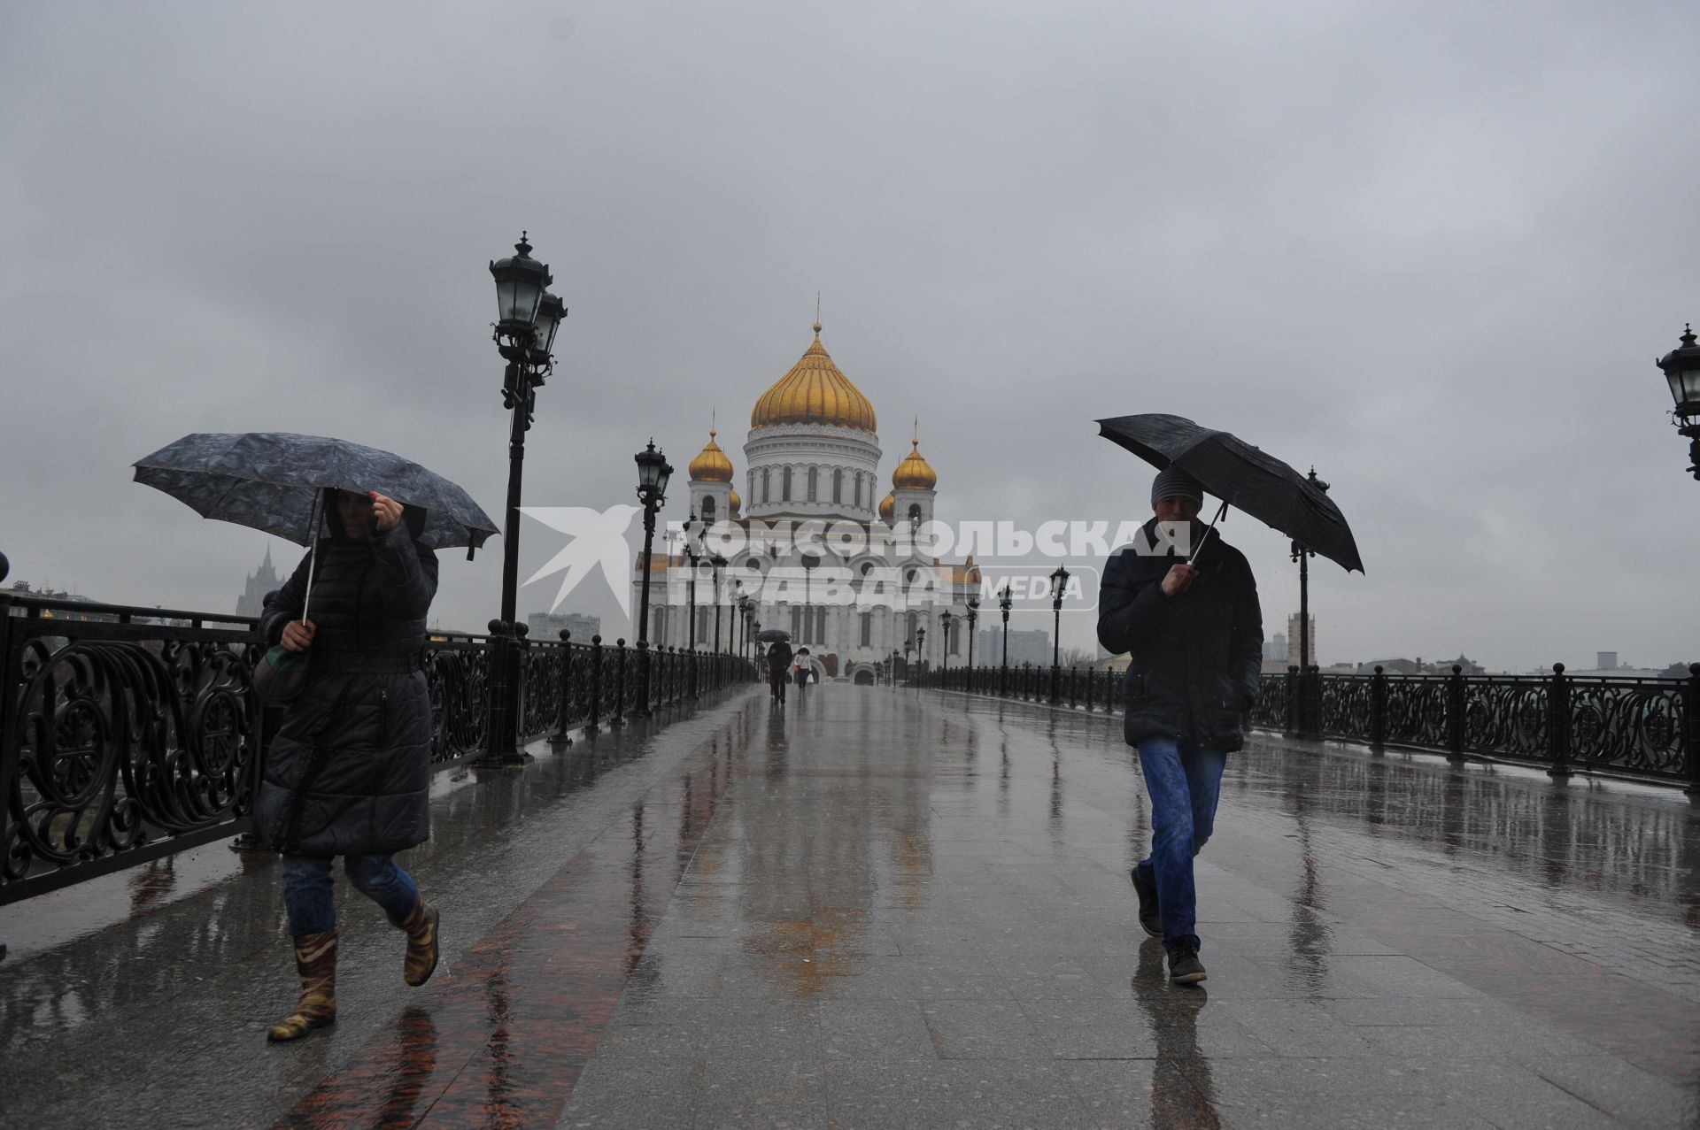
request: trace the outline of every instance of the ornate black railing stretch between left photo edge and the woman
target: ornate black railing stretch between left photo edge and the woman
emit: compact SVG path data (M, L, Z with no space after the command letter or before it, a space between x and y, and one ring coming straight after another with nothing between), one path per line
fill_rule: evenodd
M0 902L243 831L253 620L0 593Z

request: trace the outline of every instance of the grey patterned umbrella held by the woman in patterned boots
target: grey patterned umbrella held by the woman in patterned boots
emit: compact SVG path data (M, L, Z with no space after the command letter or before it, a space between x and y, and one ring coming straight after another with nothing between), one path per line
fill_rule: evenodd
M136 483L298 545L313 540L325 488L377 491L425 511L420 542L478 549L496 523L471 494L434 471L376 447L289 432L197 432L136 460ZM471 552L468 552L471 556Z

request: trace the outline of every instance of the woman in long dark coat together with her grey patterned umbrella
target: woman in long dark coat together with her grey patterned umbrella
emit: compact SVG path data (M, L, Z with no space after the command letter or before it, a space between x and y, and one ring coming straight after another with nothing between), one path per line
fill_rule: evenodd
M262 666L299 675L287 656L306 658L255 804L258 838L282 851L301 979L294 1011L267 1038L296 1040L337 1020L335 856L406 935L403 980L422 986L437 969L439 911L394 862L430 838L432 714L420 664L437 593L434 545L476 547L495 527L447 479L323 437L190 435L139 460L136 479L209 518L309 545L260 615L262 639L280 649Z

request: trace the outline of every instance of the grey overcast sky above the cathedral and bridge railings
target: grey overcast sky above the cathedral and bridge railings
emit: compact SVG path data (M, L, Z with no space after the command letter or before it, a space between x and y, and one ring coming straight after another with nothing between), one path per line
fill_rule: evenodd
M1324 663L1697 659L1652 365L1700 319L1697 32L1692 0L0 0L0 551L233 608L269 539L129 481L187 432L398 450L500 518L486 263L525 228L571 309L527 503L631 501L714 408L741 483L819 291L882 477L920 416L945 520L1148 517L1091 421L1171 411L1333 483L1367 574L1316 562ZM1280 627L1285 539L1224 534ZM522 578L559 547L527 520ZM496 613L490 549L444 554L434 619Z

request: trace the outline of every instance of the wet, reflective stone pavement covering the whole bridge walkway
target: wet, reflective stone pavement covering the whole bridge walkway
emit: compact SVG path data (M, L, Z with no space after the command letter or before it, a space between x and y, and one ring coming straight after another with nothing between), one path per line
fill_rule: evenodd
M1681 794L1256 737L1170 987L1119 729L828 685L442 778L444 967L338 884L296 1045L269 856L5 907L0 1125L1700 1125Z

